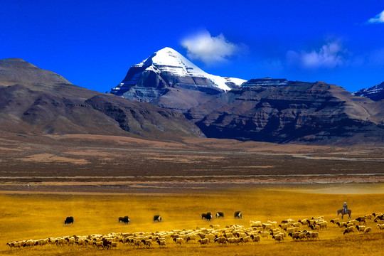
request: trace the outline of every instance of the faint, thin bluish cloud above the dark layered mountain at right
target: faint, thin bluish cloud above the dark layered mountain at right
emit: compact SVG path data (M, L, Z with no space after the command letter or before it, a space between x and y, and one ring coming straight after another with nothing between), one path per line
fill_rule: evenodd
M345 62L343 53L345 53L345 50L343 50L342 46L337 42L333 42L309 53L304 50L301 52L289 50L287 52L287 61L291 65L301 65L303 68L309 69L335 68Z

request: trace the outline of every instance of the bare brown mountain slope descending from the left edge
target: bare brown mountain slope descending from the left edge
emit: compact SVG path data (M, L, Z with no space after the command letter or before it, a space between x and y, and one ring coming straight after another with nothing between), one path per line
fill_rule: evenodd
M2 132L157 139L202 136L180 113L72 85L20 59L0 60L0 74Z

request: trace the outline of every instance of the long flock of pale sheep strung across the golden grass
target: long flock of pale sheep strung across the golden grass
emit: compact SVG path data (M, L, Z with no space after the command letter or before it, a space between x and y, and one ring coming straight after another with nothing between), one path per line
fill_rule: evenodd
M376 223L378 229L384 229L384 215L373 213L350 220L340 222L338 218L331 220L331 223L343 228L343 234L358 232L370 233L372 228L366 226L367 222ZM365 224L365 225L363 225ZM40 240L23 240L8 242L11 248L36 247L43 245L78 245L82 247L95 247L97 249L112 249L117 245L131 245L135 248L166 247L174 244L182 246L185 243L195 243L199 246L218 243L218 245L239 245L244 243L260 242L272 238L277 242L284 242L288 237L294 241L320 240L322 230L328 229L328 222L324 217L304 218L302 220L268 220L267 223L250 220L250 226L230 225L220 228L220 225L210 225L209 228L196 228L193 230L170 230L156 233L110 233L108 235L84 235L67 236L60 238L46 238Z

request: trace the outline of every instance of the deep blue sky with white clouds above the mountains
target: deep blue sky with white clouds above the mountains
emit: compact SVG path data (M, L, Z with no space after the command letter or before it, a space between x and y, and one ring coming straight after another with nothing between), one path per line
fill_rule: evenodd
M100 92L166 46L214 75L384 81L384 1L2 0L0 59Z

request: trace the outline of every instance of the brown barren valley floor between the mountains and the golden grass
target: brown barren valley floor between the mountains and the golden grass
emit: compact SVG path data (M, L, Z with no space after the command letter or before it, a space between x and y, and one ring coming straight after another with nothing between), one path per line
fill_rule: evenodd
M1 135L0 191L179 193L384 182L384 150L374 146Z

